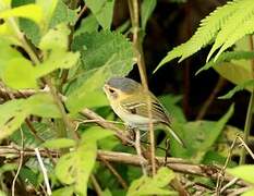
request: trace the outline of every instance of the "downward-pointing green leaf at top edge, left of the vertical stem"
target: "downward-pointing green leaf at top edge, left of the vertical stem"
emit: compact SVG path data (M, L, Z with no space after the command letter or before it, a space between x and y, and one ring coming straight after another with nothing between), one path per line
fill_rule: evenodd
M110 29L114 0L86 0L85 2L104 29Z

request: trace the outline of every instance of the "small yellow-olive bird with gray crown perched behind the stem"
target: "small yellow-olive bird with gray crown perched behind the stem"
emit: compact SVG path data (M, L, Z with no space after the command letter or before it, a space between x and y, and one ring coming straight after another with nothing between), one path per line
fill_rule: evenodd
M144 87L126 77L112 77L104 86L111 108L129 126L147 131L149 126L147 98L152 102L152 121L154 125L167 125L170 134L182 145L182 139L171 130L166 109L159 100ZM148 97L147 97L148 96Z

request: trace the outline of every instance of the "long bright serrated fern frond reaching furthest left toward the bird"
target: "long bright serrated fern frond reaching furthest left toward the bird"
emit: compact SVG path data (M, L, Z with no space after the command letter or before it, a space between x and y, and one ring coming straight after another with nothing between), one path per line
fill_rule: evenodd
M230 1L226 5L217 8L202 20L199 27L191 39L169 51L154 72L172 59L181 57L180 61L182 61L208 45L220 30L221 26L223 26L228 19L238 10L238 4L242 0Z

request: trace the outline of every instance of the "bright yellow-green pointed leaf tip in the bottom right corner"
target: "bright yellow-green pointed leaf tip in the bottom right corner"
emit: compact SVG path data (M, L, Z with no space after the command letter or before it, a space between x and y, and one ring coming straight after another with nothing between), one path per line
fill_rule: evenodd
M254 166L239 166L232 169L227 169L226 171L233 176L240 177L249 183L254 184Z

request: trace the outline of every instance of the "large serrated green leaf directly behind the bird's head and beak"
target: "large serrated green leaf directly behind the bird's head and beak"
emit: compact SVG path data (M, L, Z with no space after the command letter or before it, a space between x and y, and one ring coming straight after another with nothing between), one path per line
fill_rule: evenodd
M102 91L105 82L116 75L125 76L133 68L131 42L121 34L99 32L76 36L73 49L81 51L84 71L66 93L68 109L77 112L85 107L106 106ZM90 101L97 96L95 102Z

